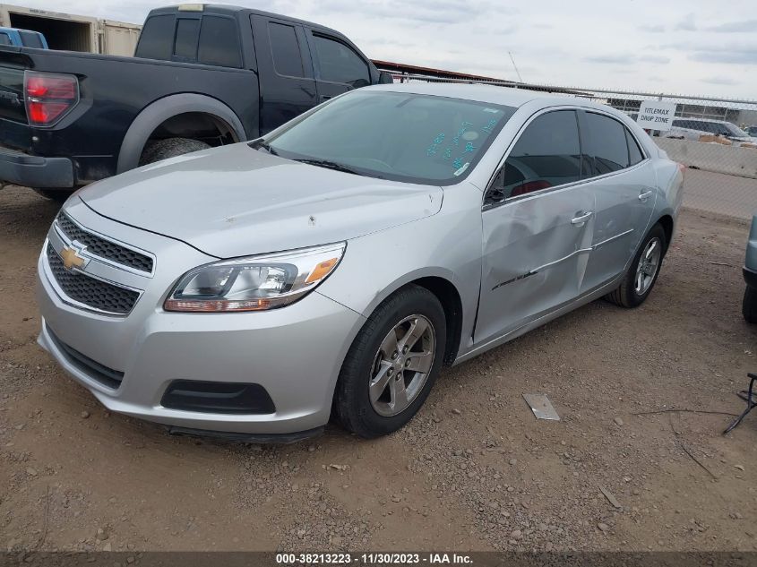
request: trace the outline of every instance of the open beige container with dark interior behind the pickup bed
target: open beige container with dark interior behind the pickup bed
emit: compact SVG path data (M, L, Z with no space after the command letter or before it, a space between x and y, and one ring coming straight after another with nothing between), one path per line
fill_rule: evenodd
M133 56L142 26L123 21L0 4L0 27L44 34L50 49Z

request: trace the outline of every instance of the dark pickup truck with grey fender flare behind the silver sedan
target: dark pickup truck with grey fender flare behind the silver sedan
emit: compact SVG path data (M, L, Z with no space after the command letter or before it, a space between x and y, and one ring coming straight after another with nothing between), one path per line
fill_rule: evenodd
M378 82L339 32L225 5L151 11L134 57L0 46L0 186L64 197Z

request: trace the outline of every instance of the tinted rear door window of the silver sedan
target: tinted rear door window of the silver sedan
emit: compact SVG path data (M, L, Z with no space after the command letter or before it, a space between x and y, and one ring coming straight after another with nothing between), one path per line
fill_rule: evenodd
M628 167L628 142L625 126L614 118L593 112L586 113L585 153L593 158L589 176L601 176Z

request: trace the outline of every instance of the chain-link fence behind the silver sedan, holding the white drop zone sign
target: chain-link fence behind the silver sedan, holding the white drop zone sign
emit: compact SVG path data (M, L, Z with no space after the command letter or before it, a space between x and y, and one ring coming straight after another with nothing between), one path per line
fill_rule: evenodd
M675 105L670 130L648 130L670 159L687 167L684 206L740 219L757 212L757 100L715 99L507 81L452 79L387 70L395 82L460 82L589 99L636 120L645 101Z

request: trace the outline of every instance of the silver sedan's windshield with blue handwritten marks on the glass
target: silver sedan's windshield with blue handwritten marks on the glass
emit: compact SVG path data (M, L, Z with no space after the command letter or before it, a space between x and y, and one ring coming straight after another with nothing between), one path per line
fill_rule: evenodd
M476 166L514 112L463 99L356 90L285 126L264 147L359 175L452 185Z

